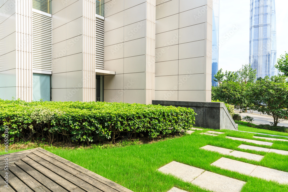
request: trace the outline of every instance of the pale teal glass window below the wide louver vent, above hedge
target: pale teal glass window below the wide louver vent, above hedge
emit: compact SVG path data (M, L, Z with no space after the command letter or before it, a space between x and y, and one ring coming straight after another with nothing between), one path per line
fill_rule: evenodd
M50 101L50 76L33 73L33 101Z

